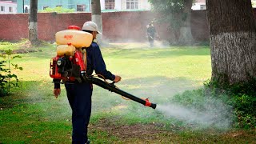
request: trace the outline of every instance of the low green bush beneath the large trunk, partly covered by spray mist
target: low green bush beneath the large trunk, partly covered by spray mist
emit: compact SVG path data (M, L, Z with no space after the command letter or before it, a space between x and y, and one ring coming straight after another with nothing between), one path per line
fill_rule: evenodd
M229 122L229 126L234 128L254 129L256 128L255 86L254 78L243 84L222 87L218 86L218 82L206 82L202 89L186 90L182 94L176 94L170 102L182 104L190 110L198 110L206 114L206 117L207 114L214 114L215 123Z

